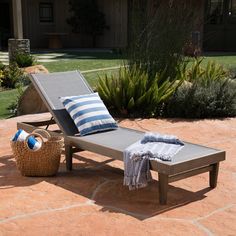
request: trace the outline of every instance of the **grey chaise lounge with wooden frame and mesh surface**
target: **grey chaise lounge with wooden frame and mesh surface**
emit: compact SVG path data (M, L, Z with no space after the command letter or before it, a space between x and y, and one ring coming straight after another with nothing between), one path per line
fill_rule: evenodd
M123 151L144 134L137 130L120 127L118 130L80 137L75 124L58 98L92 93L92 89L82 74L79 71L32 74L31 81L65 138L67 170L72 169L73 153L82 150L123 161ZM36 126L53 124L53 120L22 122L18 123L18 128L32 131L37 128ZM174 157L173 161L151 161L151 169L158 172L160 204L167 202L168 183L183 178L209 172L210 187L215 188L219 162L223 160L225 160L224 151L185 142L184 148Z

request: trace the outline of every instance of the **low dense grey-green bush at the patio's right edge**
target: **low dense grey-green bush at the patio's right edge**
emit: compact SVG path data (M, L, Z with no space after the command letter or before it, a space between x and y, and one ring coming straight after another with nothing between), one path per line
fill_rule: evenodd
M164 115L183 118L236 115L236 82L231 79L184 83L167 102Z

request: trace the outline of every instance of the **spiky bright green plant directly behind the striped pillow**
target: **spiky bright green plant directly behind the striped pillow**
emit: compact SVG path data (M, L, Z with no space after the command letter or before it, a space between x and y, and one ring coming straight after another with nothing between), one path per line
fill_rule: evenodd
M166 101L177 88L178 83L157 74L150 80L148 73L134 66L120 69L118 77L100 78L97 90L108 108L128 116L154 116L159 105Z

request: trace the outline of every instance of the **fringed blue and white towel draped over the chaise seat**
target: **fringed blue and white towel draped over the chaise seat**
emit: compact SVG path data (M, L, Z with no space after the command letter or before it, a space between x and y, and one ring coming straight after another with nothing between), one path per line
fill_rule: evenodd
M171 161L183 147L184 143L175 136L146 133L124 151L124 185L130 190L147 186L152 180L149 161Z

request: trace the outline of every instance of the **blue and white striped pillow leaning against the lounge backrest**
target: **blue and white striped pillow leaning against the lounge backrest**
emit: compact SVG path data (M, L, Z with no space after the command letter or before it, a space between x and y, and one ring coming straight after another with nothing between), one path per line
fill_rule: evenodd
M118 128L98 93L60 97L60 101L70 114L81 136Z

